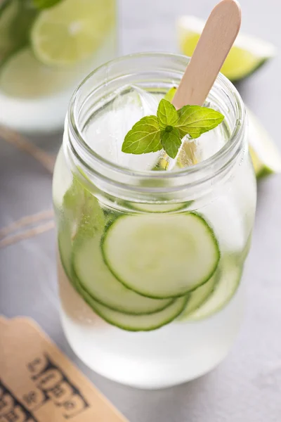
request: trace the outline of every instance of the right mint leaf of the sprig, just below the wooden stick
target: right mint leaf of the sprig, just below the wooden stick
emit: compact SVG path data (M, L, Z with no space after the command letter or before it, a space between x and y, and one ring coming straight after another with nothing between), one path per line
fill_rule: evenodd
M176 124L176 127L182 138L188 134L195 139L217 127L223 119L224 116L221 113L211 108L183 106L178 110L178 124Z

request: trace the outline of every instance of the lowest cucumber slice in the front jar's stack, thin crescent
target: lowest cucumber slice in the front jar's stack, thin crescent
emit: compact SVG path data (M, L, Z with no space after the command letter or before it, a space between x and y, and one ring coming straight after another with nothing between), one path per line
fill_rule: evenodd
M171 321L174 321L179 314L181 314L186 302L188 301L188 297L178 298L173 300L171 305L162 309L162 311L155 312L154 314L127 315L114 311L113 309L109 309L104 305L100 305L100 303L93 300L89 293L87 293L83 288L80 293L96 314L109 324L122 328L126 331L152 331L169 324Z

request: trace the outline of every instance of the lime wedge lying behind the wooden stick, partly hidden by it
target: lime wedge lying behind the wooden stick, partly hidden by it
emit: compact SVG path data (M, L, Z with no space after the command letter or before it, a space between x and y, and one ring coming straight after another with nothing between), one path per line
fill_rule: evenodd
M181 16L178 19L178 41L181 51L186 56L192 56L204 24L204 20L195 18L195 16ZM230 50L221 72L231 81L237 81L251 75L275 54L276 49L272 44L240 34Z

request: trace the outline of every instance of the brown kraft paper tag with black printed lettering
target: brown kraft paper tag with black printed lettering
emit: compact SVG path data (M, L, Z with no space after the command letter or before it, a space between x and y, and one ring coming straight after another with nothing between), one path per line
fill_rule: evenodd
M0 316L0 422L128 422L27 318Z

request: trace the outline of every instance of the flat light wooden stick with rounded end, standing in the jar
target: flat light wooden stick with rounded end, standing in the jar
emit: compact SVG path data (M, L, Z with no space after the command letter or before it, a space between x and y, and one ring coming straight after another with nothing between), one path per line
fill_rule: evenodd
M222 0L207 20L172 103L202 106L233 46L241 25L240 4Z

